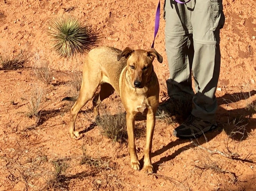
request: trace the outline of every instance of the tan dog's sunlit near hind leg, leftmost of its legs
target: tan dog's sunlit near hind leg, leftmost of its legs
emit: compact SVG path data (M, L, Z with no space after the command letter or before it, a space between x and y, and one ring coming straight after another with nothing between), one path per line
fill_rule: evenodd
M71 138L79 138L79 132L75 131L75 122L80 109L94 96L99 87L100 79L90 81L89 78L83 79L77 101L70 109L69 133Z

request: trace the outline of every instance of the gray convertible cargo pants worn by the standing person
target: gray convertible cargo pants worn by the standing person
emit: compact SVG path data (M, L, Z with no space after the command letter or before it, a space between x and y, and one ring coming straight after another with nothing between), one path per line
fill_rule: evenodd
M222 0L191 0L186 4L165 0L164 17L170 72L166 81L168 95L193 95L192 114L214 121L218 107L215 92L220 74L220 29L225 22Z

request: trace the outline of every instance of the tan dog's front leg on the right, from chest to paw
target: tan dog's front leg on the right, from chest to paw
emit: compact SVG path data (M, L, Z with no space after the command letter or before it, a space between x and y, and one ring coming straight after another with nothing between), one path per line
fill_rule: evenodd
M153 172L153 166L151 163L151 149L152 149L152 139L155 128L155 115L152 108L148 109L147 112L147 133L146 133L146 147L144 151L144 170L146 173Z

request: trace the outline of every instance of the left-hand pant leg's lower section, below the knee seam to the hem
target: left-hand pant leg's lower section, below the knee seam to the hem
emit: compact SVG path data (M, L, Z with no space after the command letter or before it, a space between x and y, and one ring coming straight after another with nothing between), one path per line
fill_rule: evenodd
M165 51L170 73L166 81L167 94L176 99L182 99L184 94L194 95L191 78L194 55L192 34L165 35Z

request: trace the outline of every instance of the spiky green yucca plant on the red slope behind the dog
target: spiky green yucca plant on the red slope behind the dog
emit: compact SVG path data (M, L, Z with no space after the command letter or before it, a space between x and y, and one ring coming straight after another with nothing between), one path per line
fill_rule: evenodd
M83 26L79 19L72 16L52 20L49 27L52 46L61 57L73 57L96 47L100 42L97 32Z

